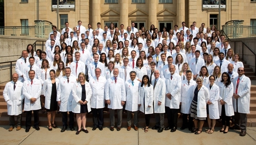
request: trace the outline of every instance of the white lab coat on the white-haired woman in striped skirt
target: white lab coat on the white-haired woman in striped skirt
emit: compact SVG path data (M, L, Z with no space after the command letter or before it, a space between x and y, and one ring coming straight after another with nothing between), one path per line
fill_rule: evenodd
M188 95L192 95L192 98L195 96L196 87L197 85L193 87L192 92L188 92ZM209 99L209 90L203 85L197 95L197 117L207 117L206 103Z

